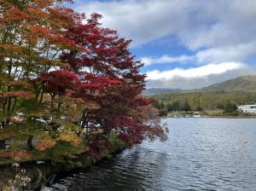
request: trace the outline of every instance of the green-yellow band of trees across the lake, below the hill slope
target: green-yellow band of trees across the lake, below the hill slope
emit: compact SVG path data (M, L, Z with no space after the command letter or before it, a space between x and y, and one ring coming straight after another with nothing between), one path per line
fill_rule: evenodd
M154 107L166 112L222 109L224 113L232 113L239 105L256 102L256 92L236 90L175 93L151 97L156 100Z

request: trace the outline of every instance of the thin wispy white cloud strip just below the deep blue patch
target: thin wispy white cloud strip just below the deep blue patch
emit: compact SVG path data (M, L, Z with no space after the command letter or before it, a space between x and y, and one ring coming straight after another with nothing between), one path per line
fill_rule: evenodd
M194 59L194 56L190 55L179 55L179 56L170 56L162 55L160 57L143 57L140 60L145 64L145 66L152 64L165 64L172 62L186 62Z

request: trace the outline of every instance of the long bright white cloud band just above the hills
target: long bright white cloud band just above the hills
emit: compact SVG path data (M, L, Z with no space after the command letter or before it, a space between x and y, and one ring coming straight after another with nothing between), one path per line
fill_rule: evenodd
M158 79L171 79L171 78L201 78L211 74L220 74L223 72L235 70L238 68L245 67L244 64L239 62L224 62L220 64L208 64L201 67L182 69L175 68L169 71L160 72L158 70L147 72L147 79L158 80Z

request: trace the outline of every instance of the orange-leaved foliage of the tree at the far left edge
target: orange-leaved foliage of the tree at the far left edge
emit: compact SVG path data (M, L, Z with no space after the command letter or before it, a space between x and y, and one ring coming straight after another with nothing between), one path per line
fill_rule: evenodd
M63 2L0 2L0 75L4 82L0 86L2 128L18 113L18 99L38 98L19 84L27 84L53 67L65 66L59 59L61 52L79 49L79 45L64 34L68 27L84 17L72 9L60 7Z

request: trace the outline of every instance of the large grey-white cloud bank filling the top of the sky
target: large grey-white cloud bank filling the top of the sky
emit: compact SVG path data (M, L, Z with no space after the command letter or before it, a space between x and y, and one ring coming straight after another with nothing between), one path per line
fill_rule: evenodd
M102 14L102 25L133 39L134 46L175 37L179 44L199 51L198 60L204 63L246 61L256 56L254 0L204 3L201 0L75 0L75 3L79 12Z

